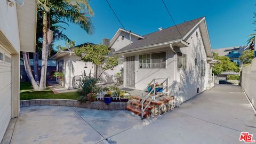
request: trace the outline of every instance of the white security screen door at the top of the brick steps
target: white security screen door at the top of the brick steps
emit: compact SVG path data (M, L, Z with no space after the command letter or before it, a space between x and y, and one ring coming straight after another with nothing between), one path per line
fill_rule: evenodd
M135 87L135 56L125 58L126 83L125 86Z

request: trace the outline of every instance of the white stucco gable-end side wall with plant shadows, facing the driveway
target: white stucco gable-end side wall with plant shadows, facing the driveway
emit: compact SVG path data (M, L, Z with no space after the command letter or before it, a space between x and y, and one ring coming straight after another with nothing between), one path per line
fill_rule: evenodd
M196 32L198 36L196 35ZM187 68L177 69L177 91L178 91L178 103L182 103L194 97L197 94L197 88L199 93L206 90L207 87L207 61L206 52L202 42L202 37L199 28L196 28L186 40L188 47L180 48L180 52L187 54ZM197 63L195 63L197 59ZM202 76L201 62L205 61L205 76Z

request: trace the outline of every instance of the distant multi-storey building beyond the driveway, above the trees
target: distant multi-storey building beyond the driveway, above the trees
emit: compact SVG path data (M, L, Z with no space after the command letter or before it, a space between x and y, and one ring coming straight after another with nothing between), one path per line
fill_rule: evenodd
M239 57L245 50L249 50L249 46L225 47L221 49L213 49L213 52L218 53L219 56L227 56L230 61L240 65L242 63Z

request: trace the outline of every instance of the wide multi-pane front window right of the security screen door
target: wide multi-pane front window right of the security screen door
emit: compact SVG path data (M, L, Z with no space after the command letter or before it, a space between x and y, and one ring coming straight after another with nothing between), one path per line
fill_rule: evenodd
M165 68L165 65L165 52L139 55L139 68Z

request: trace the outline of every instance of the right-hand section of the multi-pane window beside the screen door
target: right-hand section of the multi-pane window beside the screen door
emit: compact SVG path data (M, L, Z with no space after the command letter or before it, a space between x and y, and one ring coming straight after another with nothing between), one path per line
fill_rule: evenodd
M165 68L165 52L151 54L152 68Z

